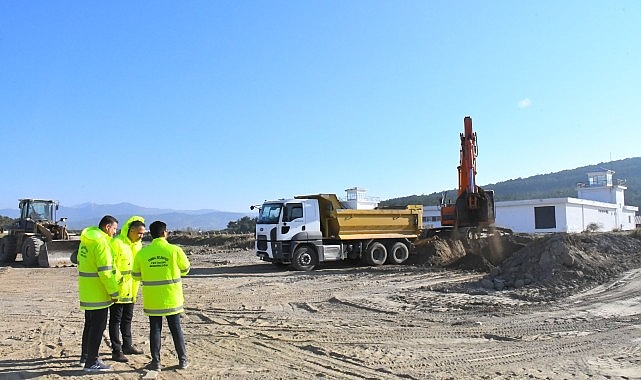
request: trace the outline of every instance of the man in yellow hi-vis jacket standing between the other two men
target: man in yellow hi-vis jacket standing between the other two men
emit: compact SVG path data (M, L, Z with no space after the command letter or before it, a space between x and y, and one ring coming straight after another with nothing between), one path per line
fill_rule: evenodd
M111 358L127 362L125 354L142 354L133 345L131 321L134 316L134 303L138 294L138 281L131 277L134 257L142 248L142 237L145 234L145 219L132 216L120 229L120 234L111 240L114 266L122 275L120 296L109 308L109 340L111 341ZM122 341L120 340L122 334Z

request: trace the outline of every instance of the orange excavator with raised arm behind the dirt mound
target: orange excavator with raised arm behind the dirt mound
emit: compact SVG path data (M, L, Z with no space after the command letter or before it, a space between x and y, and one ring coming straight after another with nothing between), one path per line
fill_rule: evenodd
M452 231L470 235L475 230L491 226L495 221L494 191L483 190L476 185L476 156L478 145L476 132L472 130L472 118L463 119L461 133L461 162L458 167L458 193L454 203L441 198L441 228L430 235L449 235Z

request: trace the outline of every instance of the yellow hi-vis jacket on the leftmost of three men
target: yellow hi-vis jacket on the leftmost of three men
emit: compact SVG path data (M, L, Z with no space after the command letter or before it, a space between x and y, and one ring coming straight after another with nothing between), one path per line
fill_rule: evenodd
M78 246L78 296L82 310L104 309L118 297L118 274L112 266L111 237L87 227Z

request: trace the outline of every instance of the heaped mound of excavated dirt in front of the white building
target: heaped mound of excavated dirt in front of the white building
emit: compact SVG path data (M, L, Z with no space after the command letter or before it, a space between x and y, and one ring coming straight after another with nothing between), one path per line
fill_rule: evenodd
M565 297L641 267L641 240L635 233L434 237L415 247L410 264L485 272L472 287L510 290L530 300Z

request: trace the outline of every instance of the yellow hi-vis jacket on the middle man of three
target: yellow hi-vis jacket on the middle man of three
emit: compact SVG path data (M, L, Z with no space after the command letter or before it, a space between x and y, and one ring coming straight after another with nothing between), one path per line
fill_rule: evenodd
M111 252L113 263L122 280L119 284L119 297L116 303L134 303L138 295L139 282L131 277L131 269L134 266L134 257L142 248L142 241L132 243L127 234L131 222L139 220L145 222L141 216L132 216L120 229L120 234L111 240Z

